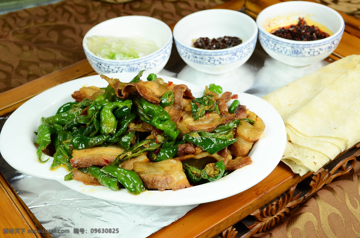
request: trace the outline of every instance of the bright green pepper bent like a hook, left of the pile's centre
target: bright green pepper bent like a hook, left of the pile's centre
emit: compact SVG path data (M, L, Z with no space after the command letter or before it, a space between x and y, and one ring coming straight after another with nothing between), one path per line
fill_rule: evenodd
M104 135L114 133L117 121L112 111L115 108L121 108L123 106L131 109L131 105L131 100L126 100L125 102L109 102L104 105L100 112L100 133Z

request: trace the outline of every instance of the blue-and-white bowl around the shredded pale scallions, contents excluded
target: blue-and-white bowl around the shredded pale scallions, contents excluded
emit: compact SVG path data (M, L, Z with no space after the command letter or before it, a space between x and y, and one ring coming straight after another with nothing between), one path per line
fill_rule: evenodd
M142 37L152 40L159 49L149 55L129 60L104 59L91 52L86 44L89 36ZM170 58L172 32L161 20L145 16L124 16L106 20L91 28L82 41L85 55L98 74L134 72L147 70L158 73Z

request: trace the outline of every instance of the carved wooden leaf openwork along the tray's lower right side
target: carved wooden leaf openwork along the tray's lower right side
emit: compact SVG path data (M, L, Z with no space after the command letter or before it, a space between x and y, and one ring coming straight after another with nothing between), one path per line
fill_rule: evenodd
M349 155L350 154L350 155ZM309 178L303 180L299 184L291 187L286 193L280 195L276 201L257 209L249 215L247 219L243 219L242 223L247 226L248 232L242 236L237 236L238 231L231 226L224 230L220 237L222 238L249 238L258 232L264 232L279 224L287 218L292 209L297 208L312 195L314 195L324 185L331 183L335 178L346 174L352 170L356 163L356 157L360 155L360 143L348 151L346 154L338 157L335 161L330 162L316 173L310 175ZM302 183L306 183L307 189L304 189ZM251 224L249 218L253 219Z

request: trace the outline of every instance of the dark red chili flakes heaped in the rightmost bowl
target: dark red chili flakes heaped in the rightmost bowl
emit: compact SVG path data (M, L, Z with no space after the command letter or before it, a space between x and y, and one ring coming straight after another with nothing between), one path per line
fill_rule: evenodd
M292 24L287 27L280 27L270 32L271 34L293 41L316 41L330 35L321 31L318 27L308 26L304 18L299 18L297 25Z

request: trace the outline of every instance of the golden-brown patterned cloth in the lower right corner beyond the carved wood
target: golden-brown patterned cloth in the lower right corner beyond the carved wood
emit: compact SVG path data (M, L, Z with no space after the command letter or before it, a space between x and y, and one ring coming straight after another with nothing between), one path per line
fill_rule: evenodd
M261 238L360 237L360 162L354 170L321 188L282 224Z

